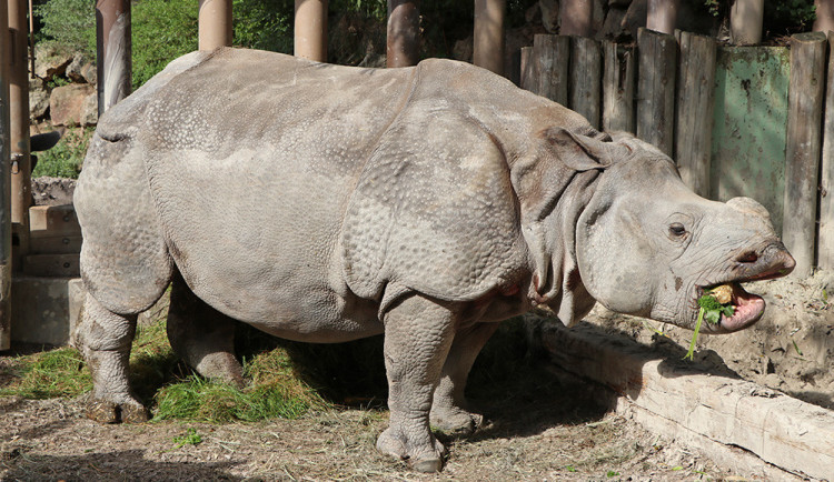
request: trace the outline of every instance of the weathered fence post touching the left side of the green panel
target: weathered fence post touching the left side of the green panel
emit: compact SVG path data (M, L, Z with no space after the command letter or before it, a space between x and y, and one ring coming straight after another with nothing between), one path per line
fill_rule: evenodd
M679 32L677 139L681 177L696 194L709 195L716 43L712 37Z

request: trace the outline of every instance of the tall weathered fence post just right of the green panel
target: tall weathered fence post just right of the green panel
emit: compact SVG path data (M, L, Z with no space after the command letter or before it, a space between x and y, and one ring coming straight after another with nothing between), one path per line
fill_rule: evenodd
M791 38L782 240L796 260L795 278L807 278L814 267L826 43L822 32Z

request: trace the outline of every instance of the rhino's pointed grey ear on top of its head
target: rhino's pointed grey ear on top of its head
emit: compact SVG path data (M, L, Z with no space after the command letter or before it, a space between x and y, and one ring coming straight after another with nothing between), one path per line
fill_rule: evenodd
M540 134L550 153L576 171L605 169L632 153L632 149L612 142L610 135L595 132L594 137L570 132L564 128L548 128Z

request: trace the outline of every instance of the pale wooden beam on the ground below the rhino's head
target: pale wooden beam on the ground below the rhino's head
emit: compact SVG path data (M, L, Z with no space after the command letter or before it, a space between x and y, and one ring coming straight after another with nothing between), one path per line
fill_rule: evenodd
M555 321L558 323L558 321ZM664 359L582 323L545 324L542 341L563 370L619 394L618 413L705 452L721 466L764 480L831 479L834 412L694 363Z

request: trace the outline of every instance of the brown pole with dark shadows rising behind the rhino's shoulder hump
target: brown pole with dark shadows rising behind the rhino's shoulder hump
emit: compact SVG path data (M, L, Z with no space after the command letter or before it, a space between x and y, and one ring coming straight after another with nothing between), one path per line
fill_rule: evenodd
M388 0L387 67L416 66L420 60L418 0Z

